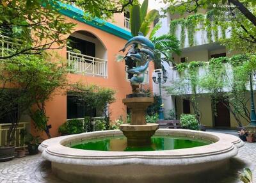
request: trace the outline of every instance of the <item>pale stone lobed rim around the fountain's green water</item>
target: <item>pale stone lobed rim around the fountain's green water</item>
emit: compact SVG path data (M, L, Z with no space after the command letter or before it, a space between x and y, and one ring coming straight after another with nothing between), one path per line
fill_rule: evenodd
M81 138L90 139L120 135L122 135L121 131L113 130L61 136L45 140L38 147L38 150L42 152L44 159L55 163L81 164L87 166L108 166L117 164L170 165L221 161L235 156L237 154L237 148L244 145L241 139L230 134L184 129L159 129L156 131L156 135L170 135L196 139L202 138L215 142L201 147L140 152L82 150L65 146L69 141L77 141Z

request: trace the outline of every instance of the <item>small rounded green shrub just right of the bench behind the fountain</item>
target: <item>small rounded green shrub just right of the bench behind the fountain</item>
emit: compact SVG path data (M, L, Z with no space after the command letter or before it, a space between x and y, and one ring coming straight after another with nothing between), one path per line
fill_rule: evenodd
M198 122L195 115L181 114L180 125L182 129L198 130Z

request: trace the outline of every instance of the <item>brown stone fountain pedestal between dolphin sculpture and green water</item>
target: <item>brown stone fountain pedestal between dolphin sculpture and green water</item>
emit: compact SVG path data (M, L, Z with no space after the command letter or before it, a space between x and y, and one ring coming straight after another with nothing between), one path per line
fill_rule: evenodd
M127 145L131 147L150 145L151 136L158 129L158 124L147 123L145 111L154 102L150 97L132 97L123 99L123 103L131 109L131 123L120 125L120 130L127 137Z

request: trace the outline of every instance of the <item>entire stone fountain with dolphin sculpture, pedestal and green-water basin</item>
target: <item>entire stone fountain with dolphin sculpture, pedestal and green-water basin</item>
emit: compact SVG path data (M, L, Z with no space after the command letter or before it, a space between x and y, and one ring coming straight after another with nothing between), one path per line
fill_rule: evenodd
M143 35L125 44L132 93L123 99L131 109L131 123L120 131L86 132L47 139L38 147L51 161L52 171L68 182L209 182L229 169L229 160L243 141L229 134L158 129L145 122L145 109L153 102L139 90L144 72L154 58L154 45Z

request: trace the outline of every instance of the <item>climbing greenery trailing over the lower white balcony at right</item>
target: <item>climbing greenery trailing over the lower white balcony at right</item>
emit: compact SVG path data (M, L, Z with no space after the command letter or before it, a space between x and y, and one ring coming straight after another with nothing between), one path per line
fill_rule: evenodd
M202 66L205 73L200 76L198 69ZM174 81L166 91L170 95L190 95L186 99L190 100L192 106L195 105L193 109L196 116L200 111L196 98L201 93L209 93L214 113L216 104L221 101L232 113L237 124L242 125L242 121L250 122L250 100L246 93L248 79L253 70L256 70L256 56L249 54L212 58L209 63L180 63L177 65L177 71L184 74L180 74L179 81Z

